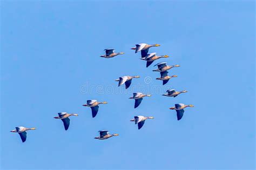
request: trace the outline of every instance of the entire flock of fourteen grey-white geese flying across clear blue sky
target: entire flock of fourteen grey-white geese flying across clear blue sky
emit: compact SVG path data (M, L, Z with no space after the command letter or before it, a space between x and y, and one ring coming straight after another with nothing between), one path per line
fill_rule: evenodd
M140 52L141 53L141 58L142 60L146 61L146 67L149 67L154 60L160 59L160 58L167 58L169 56L164 55L164 56L157 56L156 53L149 53L149 49L150 47L153 46L160 46L159 44L153 44L153 45L149 45L149 44L145 44L145 43L141 43L141 44L136 44L136 47L132 47L132 50L135 50L135 53ZM118 55L123 55L124 52L114 52L114 49L105 49L105 55L102 55L100 57L103 58L112 58ZM173 77L177 77L176 75L172 75L172 76L168 76L168 71L172 69L173 67L179 67L179 65L167 65L166 62L164 63L158 63L154 66L158 66L158 69L153 70L153 71L157 71L160 72L160 77L156 78L157 80L162 80L163 81L163 85L165 85L171 78ZM116 79L116 81L118 81L118 86L121 86L123 84L125 84L125 89L129 88L131 83L132 83L132 79L133 78L139 78L139 76L123 76L123 77L119 77L118 79ZM174 89L172 90L167 90L166 94L163 94L163 96L167 96L167 97L177 97L179 94L181 93L186 93L186 90L183 91L176 91ZM142 103L142 100L144 97L150 97L150 94L143 94L140 92L137 93L133 93L133 97L130 97L129 99L134 99L135 103L134 103L134 108L137 108L140 103ZM87 100L87 103L84 104L83 106L87 106L91 108L91 112L92 112L92 117L96 117L98 110L99 110L99 105L100 104L107 104L106 101L103 102L99 102L97 100ZM177 120L180 120L183 117L184 114L184 108L186 107L194 107L193 105L185 105L185 104L175 104L174 107L170 107L171 110L176 110L177 112ZM70 116L78 116L78 114L69 114L66 112L60 112L58 113L58 117L54 117L55 119L60 119L63 121L64 124L64 128L65 130L68 130L69 125L70 125ZM142 128L145 120L146 119L154 119L153 117L145 117L143 115L137 115L134 116L134 119L130 120L130 121L134 121L135 124L138 124L138 129ZM16 132L20 135L22 142L26 141L26 131L28 130L35 130L36 128L26 128L23 126L19 126L16 127L15 130L12 130L10 132ZM100 139L100 140L104 140L104 139L108 139L114 136L118 136L117 133L114 134L110 134L109 131L104 130L104 131L99 131L99 137L95 137L95 139Z

